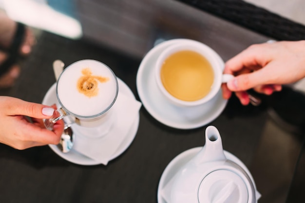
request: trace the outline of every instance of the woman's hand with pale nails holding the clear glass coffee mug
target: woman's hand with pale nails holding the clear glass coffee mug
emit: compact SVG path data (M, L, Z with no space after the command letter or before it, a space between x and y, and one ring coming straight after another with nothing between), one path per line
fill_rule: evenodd
M0 142L17 149L58 144L63 121L57 121L51 131L45 129L42 120L51 118L53 112L54 108L46 105L0 96Z

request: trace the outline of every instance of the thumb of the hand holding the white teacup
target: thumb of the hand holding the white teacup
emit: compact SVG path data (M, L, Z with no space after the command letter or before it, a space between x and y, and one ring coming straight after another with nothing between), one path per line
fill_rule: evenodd
M227 86L230 91L245 91L264 83L264 77L260 76L260 71L248 74L240 74L231 79Z

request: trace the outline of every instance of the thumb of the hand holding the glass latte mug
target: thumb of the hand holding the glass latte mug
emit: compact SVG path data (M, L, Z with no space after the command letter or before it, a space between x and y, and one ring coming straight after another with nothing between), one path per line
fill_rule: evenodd
M50 118L54 109L52 107L37 104L33 102L27 102L20 99L14 100L14 111L10 112L11 115L25 115L33 118Z

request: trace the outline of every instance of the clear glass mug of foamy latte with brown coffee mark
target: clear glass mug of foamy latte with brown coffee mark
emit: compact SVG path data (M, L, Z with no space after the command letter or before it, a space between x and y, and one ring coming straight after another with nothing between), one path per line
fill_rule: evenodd
M58 77L56 95L60 107L45 120L47 129L52 130L60 119L66 126L76 123L100 131L111 127L114 116L110 111L118 95L118 83L104 63L86 59L69 65Z

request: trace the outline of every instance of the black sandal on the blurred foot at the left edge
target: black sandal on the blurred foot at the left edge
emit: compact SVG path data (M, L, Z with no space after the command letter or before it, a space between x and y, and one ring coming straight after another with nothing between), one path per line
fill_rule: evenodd
M0 50L8 54L8 57L0 64L0 77L17 62L17 59L20 56L20 46L24 40L24 37L25 25L17 22L17 29L10 47L4 48L0 46Z

